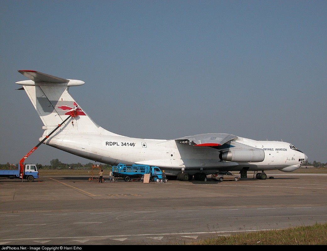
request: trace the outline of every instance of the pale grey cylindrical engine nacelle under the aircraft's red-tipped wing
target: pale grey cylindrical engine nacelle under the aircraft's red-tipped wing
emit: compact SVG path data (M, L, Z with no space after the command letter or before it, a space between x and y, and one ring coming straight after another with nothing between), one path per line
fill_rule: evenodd
M229 150L221 152L219 159L232 162L261 162L265 159L265 152L259 148L253 150Z

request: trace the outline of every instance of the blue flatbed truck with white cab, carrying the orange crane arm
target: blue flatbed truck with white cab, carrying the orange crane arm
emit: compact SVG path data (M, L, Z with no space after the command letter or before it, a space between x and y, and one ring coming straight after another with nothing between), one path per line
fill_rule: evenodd
M39 171L35 164L26 164L24 172L21 173L20 167L17 170L0 170L0 178L26 179L29 182L39 177Z

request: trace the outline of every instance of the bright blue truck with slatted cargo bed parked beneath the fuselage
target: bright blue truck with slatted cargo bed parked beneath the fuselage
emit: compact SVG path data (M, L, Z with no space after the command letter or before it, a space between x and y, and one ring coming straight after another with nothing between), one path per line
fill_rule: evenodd
M125 181L141 180L145 174L150 174L150 181L163 180L163 172L157 166L149 165L126 165L119 163L112 166L112 175L115 178L123 178Z

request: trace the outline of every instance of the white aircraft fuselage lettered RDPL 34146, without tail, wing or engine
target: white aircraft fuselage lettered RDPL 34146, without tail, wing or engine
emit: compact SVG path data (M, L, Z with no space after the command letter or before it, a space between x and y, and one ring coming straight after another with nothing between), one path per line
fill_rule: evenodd
M221 151L233 148L233 143L246 144L264 151L264 159L260 162L224 161L219 158ZM146 164L158 166L167 175L177 175L185 171L190 175L204 172L209 175L217 170L226 171L265 171L296 170L306 158L304 153L292 144L279 141L255 141L241 138L220 149L213 147L197 147L179 144L175 140L139 139L125 136L103 134L63 132L49 139L46 143L77 156L93 159L101 163L116 165ZM293 149L292 149L293 147ZM246 160L245 160L246 161Z

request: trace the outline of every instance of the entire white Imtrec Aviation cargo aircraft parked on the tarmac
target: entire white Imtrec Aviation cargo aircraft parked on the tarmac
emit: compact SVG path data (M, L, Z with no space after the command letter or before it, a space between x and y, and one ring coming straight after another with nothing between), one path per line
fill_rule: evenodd
M68 92L69 87L85 82L31 70L18 72L30 79L16 84L23 86L44 124L39 144L86 159L110 165L158 166L168 179L179 180L204 180L215 171L240 171L241 178L253 171L257 179L266 179L266 170L292 172L307 160L291 143L257 141L226 133L172 140L118 135L98 126Z

